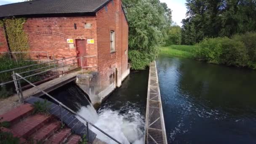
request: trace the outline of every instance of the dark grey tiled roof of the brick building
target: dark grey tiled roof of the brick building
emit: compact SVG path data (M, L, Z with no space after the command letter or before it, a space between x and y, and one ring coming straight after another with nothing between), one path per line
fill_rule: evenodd
M89 16L95 15L111 0L33 0L0 5L0 18L38 16Z

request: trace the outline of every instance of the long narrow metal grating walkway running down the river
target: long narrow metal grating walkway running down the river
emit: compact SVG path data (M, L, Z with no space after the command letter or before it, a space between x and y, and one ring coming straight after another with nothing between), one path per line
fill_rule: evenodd
M155 61L150 64L145 123L145 144L167 144Z

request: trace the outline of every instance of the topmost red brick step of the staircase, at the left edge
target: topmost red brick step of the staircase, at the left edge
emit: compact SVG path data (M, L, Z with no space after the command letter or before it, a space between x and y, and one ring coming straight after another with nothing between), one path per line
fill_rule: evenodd
M19 107L16 107L15 109L12 109L9 112L6 112L3 115L0 115L0 118L3 117L0 122L8 121L11 123L11 125L14 125L20 120L28 117L33 112L33 107L31 104L22 104Z

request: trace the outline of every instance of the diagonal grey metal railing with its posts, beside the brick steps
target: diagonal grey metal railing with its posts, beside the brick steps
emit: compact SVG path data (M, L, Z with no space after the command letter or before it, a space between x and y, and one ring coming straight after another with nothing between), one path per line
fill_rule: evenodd
M98 128L96 125L93 125L93 123L89 122L88 120L86 120L84 117L82 117L81 115L79 115L77 112L74 112L72 109L70 109L69 107L67 107L66 105L62 104L60 101L58 101L57 99L55 99L53 96L49 95L48 93L46 93L45 91L41 90L40 88L38 88L36 85L34 85L33 83L29 82L29 80L27 80L25 77L22 77L21 75L19 75L18 73L14 73L13 77L15 77L15 83L18 84L18 90L20 93L20 96L22 97L21 99L23 99L23 95L22 95L22 88L20 85L20 79L26 81L27 83L29 83L30 85L32 85L33 87L37 88L37 90L41 91L42 93L44 93L46 96L48 96L49 98L53 99L54 101L56 101L59 106L60 106L60 115L61 115L61 107L64 107L65 109L69 110L69 112L72 112L74 115L77 115L78 117L80 117L82 120L84 120L86 122L86 128L87 128L87 138L88 141L89 140L89 128L88 128L88 124L90 124L91 126L93 126L94 128L96 128L97 130L101 131L101 133L104 133L106 136L108 136L110 139L112 139L113 141L117 142L117 144L121 144L119 141L117 141L115 138L113 138L112 136L110 136L109 134L107 134L106 132L102 131L100 128ZM62 119L61 119L62 122Z

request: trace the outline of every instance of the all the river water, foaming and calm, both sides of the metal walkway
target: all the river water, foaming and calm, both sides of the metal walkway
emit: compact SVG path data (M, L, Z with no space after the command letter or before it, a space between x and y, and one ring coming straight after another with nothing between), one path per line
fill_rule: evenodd
M256 71L164 56L156 63L168 143L256 143ZM148 76L131 71L96 110L75 83L50 94L122 144L144 144Z

